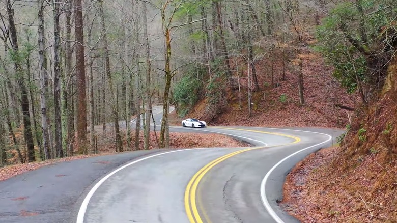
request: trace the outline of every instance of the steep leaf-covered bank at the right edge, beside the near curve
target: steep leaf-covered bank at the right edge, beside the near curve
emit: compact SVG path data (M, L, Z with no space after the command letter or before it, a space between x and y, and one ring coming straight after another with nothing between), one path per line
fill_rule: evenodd
M288 176L283 205L304 222L397 222L397 58L377 103L353 120L341 148Z

